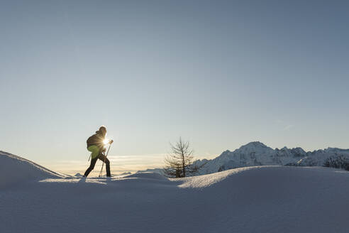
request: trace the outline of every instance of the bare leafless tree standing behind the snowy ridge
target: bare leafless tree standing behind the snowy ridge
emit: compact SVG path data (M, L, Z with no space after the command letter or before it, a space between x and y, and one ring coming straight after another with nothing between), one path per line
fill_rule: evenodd
M194 151L190 148L189 141L182 141L179 138L177 143L171 145L171 152L165 158L165 174L169 177L181 178L188 175L194 175L199 171L198 166L193 164L194 162Z

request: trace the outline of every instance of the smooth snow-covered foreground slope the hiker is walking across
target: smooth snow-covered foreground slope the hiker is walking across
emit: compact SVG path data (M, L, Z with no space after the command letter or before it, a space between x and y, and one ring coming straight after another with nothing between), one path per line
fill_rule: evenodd
M1 233L348 232L345 170L255 166L180 179L68 178L4 152L0 166Z

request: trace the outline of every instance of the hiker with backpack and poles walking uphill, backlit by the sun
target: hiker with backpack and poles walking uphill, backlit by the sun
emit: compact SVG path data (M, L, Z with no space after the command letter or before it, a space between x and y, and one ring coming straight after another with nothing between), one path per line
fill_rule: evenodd
M87 139L87 151L91 152L91 164L89 168L84 173L84 177L87 177L89 173L94 169L96 165L96 161L100 159L104 163L106 163L106 176L110 177L110 162L109 159L106 158L104 152L106 148L104 148L104 140L106 137L106 127L101 126L99 130L96 131L96 134L92 135ZM110 140L108 143L113 143L113 140Z

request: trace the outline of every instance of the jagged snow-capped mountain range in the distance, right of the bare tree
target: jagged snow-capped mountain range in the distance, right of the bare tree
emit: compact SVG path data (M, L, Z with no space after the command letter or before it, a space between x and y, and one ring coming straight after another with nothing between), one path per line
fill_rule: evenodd
M349 160L349 150L327 148L306 152L299 147L272 149L259 141L253 141L235 151L227 150L217 158L195 161L194 164L203 166L199 175L204 175L248 166L324 166L328 158L336 160L340 156Z

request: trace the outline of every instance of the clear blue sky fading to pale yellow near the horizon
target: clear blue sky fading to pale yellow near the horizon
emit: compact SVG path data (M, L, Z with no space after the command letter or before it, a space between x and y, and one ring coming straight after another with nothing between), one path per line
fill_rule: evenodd
M112 173L250 141L349 148L348 1L1 1L0 150ZM95 170L101 163L97 162Z

